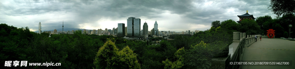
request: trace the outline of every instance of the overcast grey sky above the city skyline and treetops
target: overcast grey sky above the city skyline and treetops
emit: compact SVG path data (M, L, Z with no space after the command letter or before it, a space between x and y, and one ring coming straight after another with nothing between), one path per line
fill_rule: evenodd
M255 18L270 15L270 0L0 0L0 23L37 31L62 28L112 29L128 17L157 20L159 31L204 31L212 21L235 20L248 10Z

